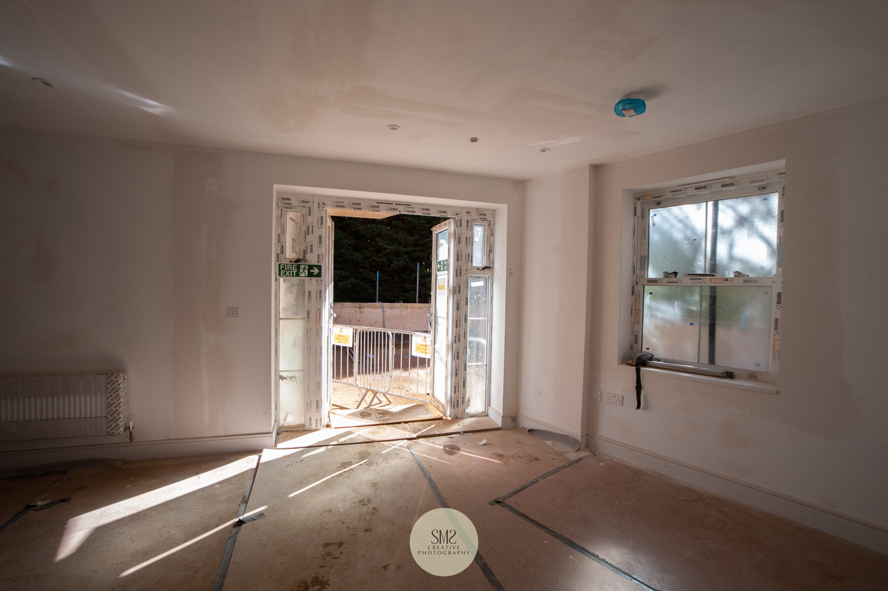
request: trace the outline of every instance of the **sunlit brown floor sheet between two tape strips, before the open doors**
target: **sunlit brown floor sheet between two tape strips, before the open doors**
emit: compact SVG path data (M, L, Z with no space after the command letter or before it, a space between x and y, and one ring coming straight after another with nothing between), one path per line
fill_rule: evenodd
M419 516L438 502L403 445L370 443L270 450L248 511L226 588L482 589L479 567L446 579L410 556Z

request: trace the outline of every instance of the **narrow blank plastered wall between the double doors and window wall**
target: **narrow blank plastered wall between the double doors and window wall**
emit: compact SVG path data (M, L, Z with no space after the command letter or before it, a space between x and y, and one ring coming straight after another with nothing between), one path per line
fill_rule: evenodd
M583 435L591 169L525 186L520 417Z

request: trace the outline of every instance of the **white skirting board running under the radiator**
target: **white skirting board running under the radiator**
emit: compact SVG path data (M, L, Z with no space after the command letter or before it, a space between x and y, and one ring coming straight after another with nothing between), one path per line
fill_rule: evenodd
M126 441L71 447L44 447L0 453L0 471L42 466L59 461L111 458L154 460L181 458L207 453L258 452L274 447L271 433L245 433L218 437L188 437L184 439L157 439L154 441Z

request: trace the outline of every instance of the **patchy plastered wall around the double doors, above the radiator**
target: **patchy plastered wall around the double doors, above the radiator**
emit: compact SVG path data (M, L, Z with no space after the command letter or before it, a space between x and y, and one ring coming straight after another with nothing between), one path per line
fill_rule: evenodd
M274 184L503 204L520 260L516 181L3 129L0 373L126 370L139 440L269 432Z

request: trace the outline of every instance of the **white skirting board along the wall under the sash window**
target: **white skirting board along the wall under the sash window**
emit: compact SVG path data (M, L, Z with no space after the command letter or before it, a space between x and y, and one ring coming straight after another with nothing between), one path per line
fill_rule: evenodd
M607 437L589 434L585 438L592 450L608 455L614 460L649 470L664 477L674 478L686 485L696 486L709 493L736 500L797 524L807 525L815 530L888 554L888 527L884 525L846 515L835 509L821 507L806 500L727 477L659 453L648 452Z

